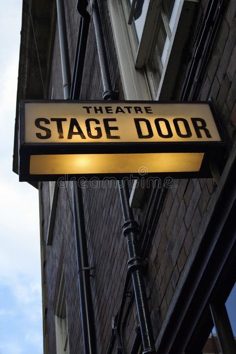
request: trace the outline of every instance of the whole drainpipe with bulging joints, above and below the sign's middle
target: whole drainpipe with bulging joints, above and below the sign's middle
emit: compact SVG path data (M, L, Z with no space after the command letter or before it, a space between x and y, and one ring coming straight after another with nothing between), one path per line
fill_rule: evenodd
M95 34L97 40L99 62L104 86L104 100L115 100L116 93L112 89L112 82L109 72L107 53L104 43L104 36L102 30L102 23L98 8L97 0L91 0L93 21L95 27ZM128 271L131 273L133 288L137 306L137 313L140 324L140 332L142 336L143 354L154 354L154 338L150 319L150 313L148 309L147 295L144 284L143 276L143 261L140 257L140 251L138 247L138 225L133 218L133 213L129 207L129 192L127 182L118 181L120 204L123 215L123 235L127 240L127 248L129 259L127 262Z

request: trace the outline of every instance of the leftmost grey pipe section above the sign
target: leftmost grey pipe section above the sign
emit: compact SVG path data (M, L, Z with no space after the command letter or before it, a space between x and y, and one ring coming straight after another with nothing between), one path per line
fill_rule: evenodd
M58 20L58 31L59 31L60 52L61 52L64 99L68 100L70 98L71 72L70 72L70 61L69 61L69 53L68 53L68 42L67 42L67 35L66 35L65 8L64 8L64 1L62 0L57 0L57 20Z

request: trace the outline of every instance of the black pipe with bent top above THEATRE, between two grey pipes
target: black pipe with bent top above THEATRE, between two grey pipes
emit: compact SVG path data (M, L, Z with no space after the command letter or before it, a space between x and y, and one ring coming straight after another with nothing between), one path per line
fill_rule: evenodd
M85 53L89 34L90 14L87 11L88 1L79 0L77 3L77 11L80 14L80 27L76 47L76 57L74 64L73 80L71 87L71 98L79 100L81 83L83 78Z

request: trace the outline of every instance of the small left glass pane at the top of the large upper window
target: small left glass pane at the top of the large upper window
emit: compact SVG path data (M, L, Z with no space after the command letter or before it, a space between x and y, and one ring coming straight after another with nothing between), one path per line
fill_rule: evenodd
M132 0L128 0L129 5L131 6ZM133 23L135 32L137 35L138 42L140 42L142 31L147 15L147 8L148 8L149 0L136 0L134 12L133 12Z

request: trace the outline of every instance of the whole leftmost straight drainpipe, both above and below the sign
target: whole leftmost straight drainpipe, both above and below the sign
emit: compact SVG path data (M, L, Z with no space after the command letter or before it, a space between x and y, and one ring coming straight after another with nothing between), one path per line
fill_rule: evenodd
M68 43L66 35L66 20L63 0L57 0L57 16L61 51L62 78L64 98L69 99L71 76ZM82 332L84 354L96 354L96 330L94 309L90 285L90 269L88 261L88 249L85 233L84 208L82 191L76 181L72 183L73 218L76 242L76 256L79 275L80 311L82 319Z

